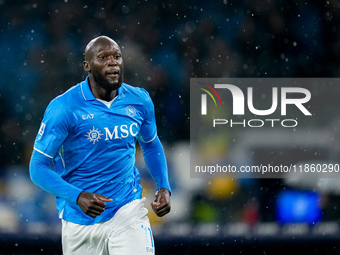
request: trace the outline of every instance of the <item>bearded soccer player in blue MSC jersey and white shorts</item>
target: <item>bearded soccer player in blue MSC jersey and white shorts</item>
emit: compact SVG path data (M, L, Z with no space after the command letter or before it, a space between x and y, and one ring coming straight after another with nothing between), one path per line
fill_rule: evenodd
M85 49L86 80L48 105L30 162L32 181L56 196L63 253L154 254L135 163L136 141L158 191L152 209L170 211L170 185L154 106L123 83L119 45L99 36Z

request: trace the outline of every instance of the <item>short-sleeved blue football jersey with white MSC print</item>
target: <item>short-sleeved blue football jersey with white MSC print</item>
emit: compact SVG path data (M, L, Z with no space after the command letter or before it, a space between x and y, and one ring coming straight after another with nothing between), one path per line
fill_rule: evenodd
M135 145L137 139L150 142L156 136L154 106L142 88L123 83L108 104L93 96L86 78L53 99L34 149L53 159L54 170L68 183L113 199L93 219L75 203L57 197L59 216L77 224L94 224L141 198Z

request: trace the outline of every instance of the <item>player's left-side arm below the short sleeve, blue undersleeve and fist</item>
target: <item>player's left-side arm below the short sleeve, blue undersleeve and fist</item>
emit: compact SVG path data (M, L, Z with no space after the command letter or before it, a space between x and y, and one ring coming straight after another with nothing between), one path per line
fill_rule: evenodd
M103 201L112 201L100 194L84 192L64 181L59 174L50 169L50 162L49 157L33 151L30 162L30 176L32 181L42 189L77 204L85 214L92 218L104 211L106 204Z

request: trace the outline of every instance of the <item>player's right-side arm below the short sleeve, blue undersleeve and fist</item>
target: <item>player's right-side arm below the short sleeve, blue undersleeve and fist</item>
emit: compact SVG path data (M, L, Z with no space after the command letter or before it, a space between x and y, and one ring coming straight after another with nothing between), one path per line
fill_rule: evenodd
M164 149L158 136L149 143L139 141L139 144L143 151L145 164L159 189L156 192L155 201L151 203L151 207L157 216L162 217L170 212L171 209L171 189Z

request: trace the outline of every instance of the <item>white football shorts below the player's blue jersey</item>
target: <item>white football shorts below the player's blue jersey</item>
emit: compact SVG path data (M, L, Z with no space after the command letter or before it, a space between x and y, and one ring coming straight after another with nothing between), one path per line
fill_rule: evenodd
M94 225L62 220L64 255L155 254L148 210L143 199L121 207L114 217Z

